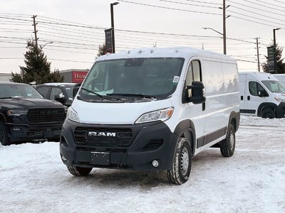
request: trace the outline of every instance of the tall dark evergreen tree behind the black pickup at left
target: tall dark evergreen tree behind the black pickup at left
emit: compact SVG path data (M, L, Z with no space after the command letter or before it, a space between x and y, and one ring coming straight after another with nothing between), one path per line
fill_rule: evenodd
M43 84L46 82L63 82L58 70L51 72L51 62L48 62L43 50L36 46L31 40L27 41L28 50L24 57L26 67L21 67L21 75L12 72L12 82L36 82L36 84Z

